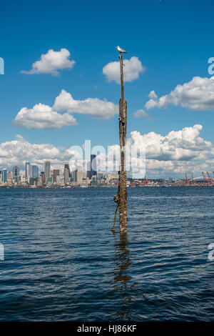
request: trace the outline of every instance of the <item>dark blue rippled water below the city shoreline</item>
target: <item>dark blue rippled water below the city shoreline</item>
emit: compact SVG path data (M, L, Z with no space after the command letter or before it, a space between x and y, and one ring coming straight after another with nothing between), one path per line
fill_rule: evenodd
M0 320L214 319L214 188L1 189ZM116 225L118 231L118 224Z

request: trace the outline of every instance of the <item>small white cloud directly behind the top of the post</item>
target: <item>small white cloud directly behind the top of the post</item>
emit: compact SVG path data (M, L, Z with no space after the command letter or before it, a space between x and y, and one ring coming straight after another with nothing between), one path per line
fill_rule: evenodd
M136 56L131 57L131 59L124 59L123 64L124 81L134 81L146 70L146 67L142 65L141 61ZM117 84L120 84L120 62L113 61L106 64L103 67L103 74L106 76L108 81L116 81Z

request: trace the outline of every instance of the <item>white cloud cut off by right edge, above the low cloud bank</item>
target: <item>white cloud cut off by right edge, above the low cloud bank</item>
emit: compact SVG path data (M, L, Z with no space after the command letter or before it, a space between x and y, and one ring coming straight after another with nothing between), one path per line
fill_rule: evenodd
M191 81L175 87L170 94L158 98L153 91L146 103L146 109L166 108L168 105L186 107L196 111L214 109L214 76L193 77Z

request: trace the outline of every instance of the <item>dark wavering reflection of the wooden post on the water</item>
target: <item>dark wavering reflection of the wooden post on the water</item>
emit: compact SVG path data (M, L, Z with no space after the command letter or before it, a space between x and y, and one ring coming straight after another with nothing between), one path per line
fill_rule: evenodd
M132 320L131 316L131 302L133 300L133 287L135 282L131 284L131 256L128 249L127 234L114 234L114 248L115 248L115 269L113 270L113 289L118 292L119 309L116 310L117 320Z

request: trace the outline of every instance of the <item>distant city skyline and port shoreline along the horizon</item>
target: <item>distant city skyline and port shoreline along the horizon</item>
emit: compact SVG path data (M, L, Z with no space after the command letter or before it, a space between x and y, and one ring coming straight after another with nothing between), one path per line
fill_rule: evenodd
M87 170L84 171L83 167L76 167L75 169L70 169L70 164L64 164L63 165L63 171L62 169L51 169L51 162L46 161L44 163L44 169L39 171L39 167L36 164L31 164L31 162L25 162L25 174L21 174L19 170L19 166L14 166L11 171L7 171L6 168L0 167L0 184L7 183L9 180L13 180L16 183L28 183L29 185L33 185L36 183L38 184L39 179L41 179L41 184L43 185L54 185L54 184L61 184L61 180L63 179L64 185L70 184L70 182L78 182L77 185L82 184L83 180L87 180L90 182L89 184L93 185L93 182L95 181L94 178L98 177L98 174L101 176L115 176L118 179L118 172L102 172L98 171L96 168L96 159L97 156L95 154L91 154L91 159L87 164ZM39 174L40 172L40 174ZM11 175L12 174L12 175ZM106 175L105 175L106 174ZM202 175L201 175L202 174ZM149 178L152 181L155 181L157 179L165 180L165 181L185 181L185 186L188 187L188 185L191 185L191 183L196 183L196 181L202 181L203 185L210 185L213 186L214 179L211 176L213 172L201 172L199 177L193 176L193 172L191 173L191 177L188 177L188 174L185 173L185 177L181 179L173 179L173 177L169 178ZM58 179L60 177L60 179ZM148 178L148 177L147 177ZM144 180L145 183L147 183L146 174L144 177L132 177L131 174L128 174L128 181L130 179L141 181ZM96 185L96 184L94 184ZM74 185L73 185L74 186Z

